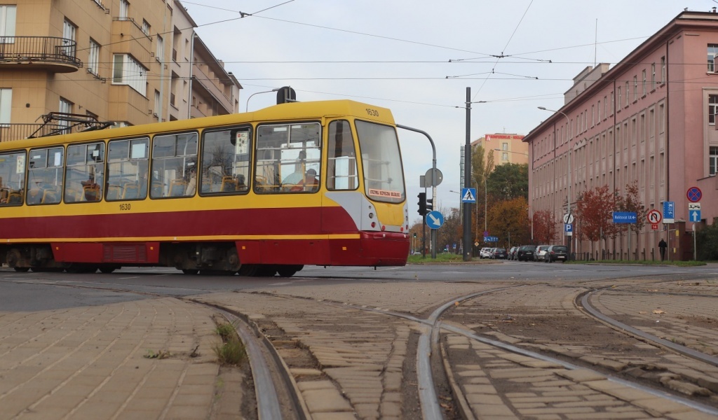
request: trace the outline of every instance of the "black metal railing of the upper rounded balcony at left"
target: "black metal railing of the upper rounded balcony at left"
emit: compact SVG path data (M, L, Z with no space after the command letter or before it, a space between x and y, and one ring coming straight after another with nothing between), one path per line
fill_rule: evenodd
M0 37L0 63L57 63L82 67L78 43L58 37Z

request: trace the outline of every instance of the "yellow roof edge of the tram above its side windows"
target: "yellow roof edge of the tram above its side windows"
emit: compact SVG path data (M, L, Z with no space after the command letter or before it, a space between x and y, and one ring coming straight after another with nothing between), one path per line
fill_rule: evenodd
M376 111L376 112L373 112ZM280 121L317 120L327 117L351 116L377 123L394 124L393 115L388 108L381 108L353 100L322 100L312 102L290 102L272 105L251 113L217 115L213 117L192 118L190 120L169 121L131 125L122 128L85 131L66 135L50 135L39 138L11 140L0 142L0 150L37 147L42 145L62 144L105 140L106 138L131 138L154 133L168 133L182 130L200 130L207 127L237 125L246 123L266 123Z

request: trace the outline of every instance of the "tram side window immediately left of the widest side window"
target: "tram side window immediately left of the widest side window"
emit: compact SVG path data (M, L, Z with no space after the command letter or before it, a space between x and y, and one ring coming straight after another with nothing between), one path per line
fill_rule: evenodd
M248 191L251 138L251 128L202 133L202 195Z

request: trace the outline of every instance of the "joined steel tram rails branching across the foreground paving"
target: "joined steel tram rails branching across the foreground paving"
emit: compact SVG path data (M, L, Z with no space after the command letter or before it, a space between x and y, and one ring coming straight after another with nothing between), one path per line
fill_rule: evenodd
M53 286L87 287L108 291L132 292L127 288L118 288L114 287L114 285L113 287L106 287L106 285L98 287L96 285L89 284L78 285L77 283L70 285L48 282L48 284ZM688 398L681 398L666 391L656 390L655 388L644 386L643 383L640 383L640 381L630 381L620 376L607 374L605 370L602 369L592 369L590 366L587 366L587 363L570 363L565 361L563 358L552 357L551 355L546 355L540 351L527 350L526 348L522 348L521 345L516 345L516 343L510 342L510 340L487 338L484 335L477 333L474 328L468 328L465 325L457 325L451 320L444 319L452 312L452 310L470 305L472 300L479 297L490 297L492 294L506 292L509 289L518 290L524 287L536 287L536 285L536 283L530 285L501 285L500 287L490 287L486 290L481 290L480 292L455 295L453 297L444 298L441 302L435 302L432 304L431 306L433 309L430 310L430 312L416 312L411 310L409 312L402 312L401 310L388 309L386 305L366 305L358 301L351 302L351 300L331 300L326 297L308 298L292 295L291 293L236 292L236 294L246 297L249 300L253 300L254 297L267 297L270 299L281 298L284 300L297 301L299 302L300 307L303 306L302 302L311 302L312 305L330 306L337 310L349 309L391 318L398 318L414 325L412 328L420 331L414 360L416 363L416 393L419 395L421 415L424 419L475 418L474 414L472 414L472 404L475 405L477 403L472 400L470 395L467 395L465 388L466 384L460 383L459 379L462 378L460 372L454 371L454 366L457 364L457 361L451 360L452 357L454 357L452 356L452 352L455 352L455 350L450 348L449 341L454 340L457 337L462 340L467 340L470 347L473 345L487 345L494 348L495 350L493 351L505 354L505 356L501 356L505 361L513 361L515 358L526 358L521 361L521 366L531 365L533 362L528 361L530 359L535 361L535 363L546 363L546 366L550 366L544 368L547 372L552 369L555 370L556 368L560 368L565 371L589 371L596 377L600 376L605 378L607 381L617 383L621 386L625 386L626 388L639 389L647 395L682 404L686 407L696 409L709 415L718 416L718 410L714 407L705 406L704 404L700 404L699 402L692 401ZM586 285L583 285L582 287L585 286ZM238 310L238 306L225 305L222 302L210 303L208 301L211 301L211 297L202 297L202 299L197 300L189 297L177 297L177 295L172 295L171 292L139 292L138 294L149 297L179 298L188 302L206 305L208 307L212 307L213 310L221 312L230 323L237 326L238 334L241 336L243 342L246 343L248 351L251 351L251 371L256 385L254 395L256 396L255 398L257 401L259 418L311 418L306 401L304 401L304 398L302 397L302 392L299 391L299 387L294 381L293 374L290 373L290 369L297 366L292 366L291 363L289 365L284 363L280 353L274 345L272 345L274 340L270 340L269 336L266 335L266 325L259 325L256 323L256 320L248 317L251 312L245 312L241 309ZM280 337L279 339L281 340L282 338ZM293 340L297 340L297 338L293 338ZM276 341L274 341L274 343L276 343ZM256 349L252 350L251 348ZM309 350L308 345L305 350L313 351ZM411 356L407 355L407 358L410 357ZM259 364L264 363L264 368L255 366L256 363L253 363L253 361L259 361ZM320 369L323 369L322 363L318 363L317 366L319 366ZM261 373L261 371L269 371L269 374L266 374L266 372ZM442 372L445 374L445 378L437 376L437 373ZM409 382L411 382L411 378L409 378ZM437 383L449 384L453 398L451 404L452 408L447 409L447 396L445 393L442 393L442 391L437 390ZM271 388L275 388L275 391L271 391ZM269 389L269 391L267 391L267 389ZM272 393L274 393L275 396L271 396ZM280 404L277 401L282 401L282 403ZM276 406L284 404L284 401L289 401L289 404L295 404L295 408L283 410L279 414L276 411L273 411L276 410ZM515 412L514 414L517 413Z

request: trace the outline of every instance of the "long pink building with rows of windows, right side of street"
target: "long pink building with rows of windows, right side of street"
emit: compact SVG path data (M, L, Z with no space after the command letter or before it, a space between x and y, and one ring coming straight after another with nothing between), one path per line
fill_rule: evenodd
M529 211L553 211L557 242L562 216L578 194L600 186L623 195L638 183L646 209L675 202L675 224L646 223L633 234L590 243L572 237L587 257L692 258L689 188L702 197L696 228L718 219L718 14L684 11L617 65L589 67L567 92L567 103L523 138L529 153ZM596 76L600 71L600 77ZM580 75L579 75L580 76ZM695 216L695 214L694 214ZM574 221L574 231L580 221ZM689 232L686 232L686 229Z

